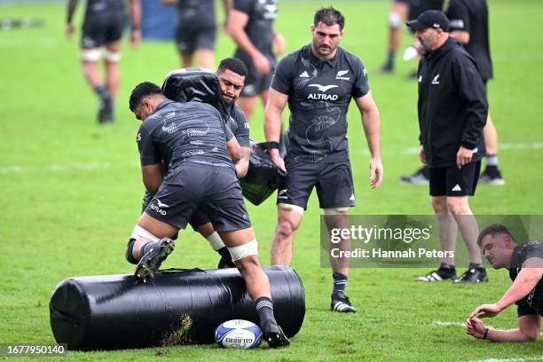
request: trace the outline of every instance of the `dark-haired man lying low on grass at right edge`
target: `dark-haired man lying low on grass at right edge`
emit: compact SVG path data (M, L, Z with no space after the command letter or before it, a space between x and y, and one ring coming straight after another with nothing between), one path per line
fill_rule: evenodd
M509 270L513 285L497 303L480 305L471 313L466 333L491 341L538 341L543 316L543 242L528 241L519 247L505 226L493 224L481 232L477 243L494 269ZM479 319L494 317L513 303L518 313L516 329L490 329Z

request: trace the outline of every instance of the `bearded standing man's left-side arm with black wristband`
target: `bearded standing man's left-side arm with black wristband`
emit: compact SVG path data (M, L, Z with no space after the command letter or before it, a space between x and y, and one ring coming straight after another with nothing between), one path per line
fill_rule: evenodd
M281 115L287 106L288 96L270 88L268 103L264 109L264 137L266 142L277 142L281 137ZM269 151L271 161L279 169L285 169L285 162L279 156L278 148L271 148Z

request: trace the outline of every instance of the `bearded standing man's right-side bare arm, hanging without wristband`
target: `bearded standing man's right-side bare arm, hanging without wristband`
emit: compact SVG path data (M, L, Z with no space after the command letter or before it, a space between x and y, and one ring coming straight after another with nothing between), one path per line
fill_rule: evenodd
M355 102L362 117L367 146L372 155L370 161L370 186L377 188L381 185L383 173L380 151L381 118L379 109L377 109L371 91L368 91L362 97L355 98Z

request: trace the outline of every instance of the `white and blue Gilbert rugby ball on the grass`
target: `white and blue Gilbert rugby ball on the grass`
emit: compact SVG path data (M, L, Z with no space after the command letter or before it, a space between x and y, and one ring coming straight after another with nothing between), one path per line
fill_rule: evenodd
M262 342L262 331L255 323L243 319L224 322L215 330L215 342L220 347L248 350Z

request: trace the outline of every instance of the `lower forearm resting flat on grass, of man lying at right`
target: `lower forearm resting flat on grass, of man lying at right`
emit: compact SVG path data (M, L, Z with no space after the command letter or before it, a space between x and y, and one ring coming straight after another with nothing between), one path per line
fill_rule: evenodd
M479 339L490 341L535 342L539 340L541 318L538 313L527 314L518 318L518 328L500 330L484 326L476 317L466 320L466 333Z

